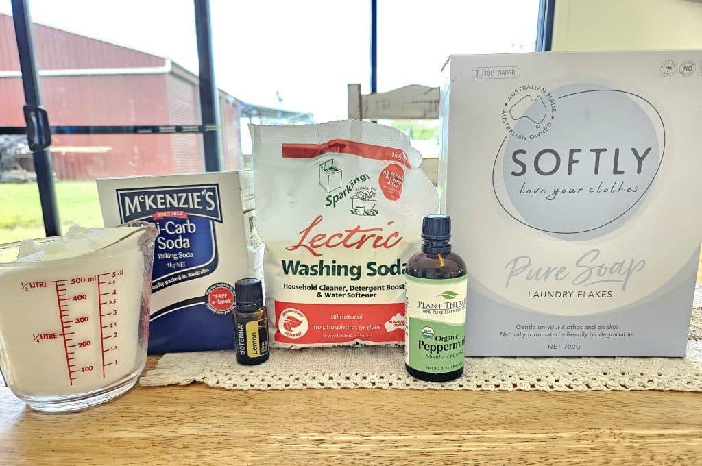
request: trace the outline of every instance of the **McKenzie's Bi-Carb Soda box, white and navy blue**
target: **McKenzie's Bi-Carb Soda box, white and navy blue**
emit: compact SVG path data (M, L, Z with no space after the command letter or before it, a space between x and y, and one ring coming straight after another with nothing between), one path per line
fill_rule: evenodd
M159 229L149 352L232 349L234 282L263 277L251 171L97 180L105 226Z

